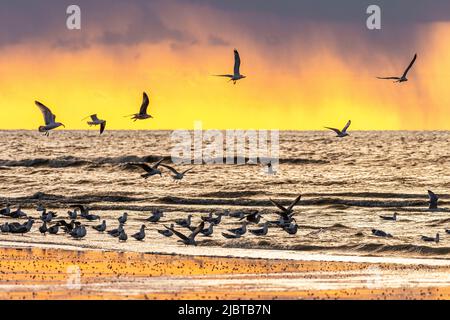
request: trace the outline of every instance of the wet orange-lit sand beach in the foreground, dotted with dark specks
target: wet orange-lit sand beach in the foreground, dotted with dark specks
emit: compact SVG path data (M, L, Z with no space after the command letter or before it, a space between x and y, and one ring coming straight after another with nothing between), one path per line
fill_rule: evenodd
M0 249L0 261L0 299L450 299L450 265L445 262L298 261L30 247Z

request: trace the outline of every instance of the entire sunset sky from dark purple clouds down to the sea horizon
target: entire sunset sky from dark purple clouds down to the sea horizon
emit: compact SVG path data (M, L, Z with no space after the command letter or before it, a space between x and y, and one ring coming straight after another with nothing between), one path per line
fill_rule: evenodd
M0 128L37 129L39 100L67 129L97 113L109 129L449 130L449 36L448 0L2 1ZM234 48L236 85L212 76ZM410 81L376 79L415 53ZM154 119L134 123L143 91Z

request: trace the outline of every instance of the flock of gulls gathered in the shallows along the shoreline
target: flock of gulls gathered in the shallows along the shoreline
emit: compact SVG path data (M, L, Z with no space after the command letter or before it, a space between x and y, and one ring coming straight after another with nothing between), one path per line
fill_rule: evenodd
M434 194L431 190L428 191L429 196L429 209L438 209L438 199L439 197ZM205 237L211 236L214 232L214 227L219 225L223 217L229 217L236 219L236 222L241 222L241 226L238 228L228 229L227 232L222 232L222 236L226 239L238 239L248 232L255 236L265 236L269 231L269 225L279 227L290 235L295 235L298 231L298 225L295 220L296 212L294 212L294 207L300 202L301 195L297 196L292 203L286 207L279 202L269 199L270 202L278 208L276 214L279 216L278 220L269 221L263 217L263 214L258 210L253 210L251 212L244 211L234 211L224 210L218 213L210 212L208 216L201 216L201 222L198 225L193 225L192 218L193 215L189 214L184 219L175 219L170 226L163 224L164 229L159 229L158 232L165 237L177 236L181 243L185 245L197 245L195 238L198 234L202 234ZM58 217L58 214L54 211L47 211L47 209L40 203L36 210L41 212L39 218L33 218L28 216L22 211L19 206L16 210L11 210L11 205L7 204L6 208L0 210L0 215L4 217L9 217L13 219L28 218L28 220L21 224L19 222L6 222L0 225L0 231L2 233L12 233L12 234L25 234L31 231L35 220L41 220L41 225L39 227L39 232L43 235L51 234L56 235L60 229L68 234L74 239L82 239L87 235L88 225L83 224L82 219L85 221L100 221L102 220L99 215L91 214L88 207L84 205L73 205L71 207L73 210L68 211L68 221ZM150 217L146 219L147 222L155 224L161 222L161 218L164 217L164 213L160 209L153 210ZM265 219L266 221L262 226L257 227L261 221ZM397 221L398 214L394 213L393 216L380 216L380 219L387 221ZM120 242L125 242L128 240L128 235L125 231L125 224L128 221L128 214L123 213L117 218L118 226L114 229L108 229L106 225L106 220L102 220L99 225L92 225L91 227L97 232L104 233L107 232L108 235L118 238ZM208 226L206 226L208 223ZM177 228L184 228L186 232L179 231L175 229L175 224ZM247 229L248 225L255 225L255 228ZM138 241L143 241L145 239L145 229L146 225L142 224L139 232L134 233L132 237ZM450 229L446 229L445 232L450 234ZM377 237L392 238L393 236L383 230L372 229L372 234ZM423 241L427 242L439 242L439 233L435 237L421 236Z

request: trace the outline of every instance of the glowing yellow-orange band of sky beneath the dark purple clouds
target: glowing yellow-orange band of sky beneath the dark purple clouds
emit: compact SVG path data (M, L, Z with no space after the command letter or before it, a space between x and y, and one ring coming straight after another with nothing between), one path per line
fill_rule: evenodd
M279 16L250 14L265 25L264 37L255 37L255 25L261 24L246 25L243 13L205 4L157 8L155 15L169 29L160 38L156 33L154 39L131 43L52 45L61 36L70 44L101 35L102 21L89 22L84 14L81 31L49 29L2 44L1 128L36 129L42 123L34 105L39 100L67 129L87 129L81 119L92 113L106 119L109 129L189 129L202 121L205 129L321 130L341 127L348 119L353 130L450 129L450 45L442 41L450 36L450 22L418 24L413 42L398 39L400 49L389 50L371 46L364 39L368 31L358 30L365 28L364 12L360 24L322 20L301 28ZM131 6L121 14L136 12ZM63 11L63 29L64 19ZM109 21L108 30L128 32L127 21ZM395 25L372 31L378 32L376 40L389 35L389 27ZM247 75L236 85L211 76L232 72L234 48ZM415 52L409 82L375 79L400 75ZM142 91L149 93L154 119L133 123L124 116L138 110Z

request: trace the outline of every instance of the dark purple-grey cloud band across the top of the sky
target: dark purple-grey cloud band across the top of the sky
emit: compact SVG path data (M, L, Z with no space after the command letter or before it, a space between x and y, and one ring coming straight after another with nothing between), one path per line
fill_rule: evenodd
M70 4L82 8L83 32L65 28L65 11ZM370 4L378 4L382 9L381 32L365 28L365 11ZM169 41L173 48L200 43L228 46L233 39L220 30L196 39L180 27L183 23L178 21L178 11L191 8L195 13L199 7L226 15L230 25L249 34L256 43L269 46L283 46L293 38L312 41L317 35L312 35L311 24L322 24L335 28L342 50L355 41L353 35L346 36L349 31L356 32L361 37L358 40L369 47L407 48L414 45L416 28L421 23L450 21L449 0L11 0L0 3L0 47L33 40L68 50L97 43L135 45L162 41ZM161 12L168 18L162 19ZM199 14L196 20L201 24L203 18ZM268 24L268 18L278 23ZM227 29L227 25L220 27Z

